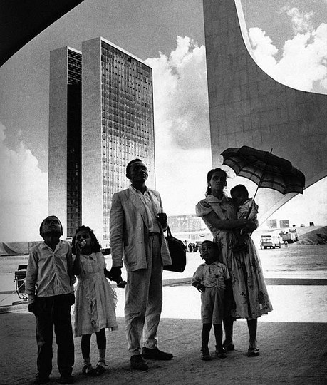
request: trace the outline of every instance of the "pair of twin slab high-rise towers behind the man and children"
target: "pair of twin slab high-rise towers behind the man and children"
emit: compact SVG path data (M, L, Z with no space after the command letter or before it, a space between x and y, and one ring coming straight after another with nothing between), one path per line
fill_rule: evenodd
M79 53L80 98L76 94L71 97L79 106L74 110L63 81L67 79L65 63L66 73L69 68L65 50L70 52L71 48L51 53L49 212L66 221L68 236L83 223L95 230L103 247L108 247L111 197L130 185L125 177L127 163L141 158L149 168L148 185L155 187L152 68L103 38L84 41ZM67 125L69 116L78 108L79 120L71 130ZM69 148L76 163L69 162ZM65 171L68 165L75 165L71 173ZM55 176L51 177L53 171ZM76 187L76 197L69 193L70 184ZM69 210L71 204L73 210ZM69 222L74 214L76 222Z

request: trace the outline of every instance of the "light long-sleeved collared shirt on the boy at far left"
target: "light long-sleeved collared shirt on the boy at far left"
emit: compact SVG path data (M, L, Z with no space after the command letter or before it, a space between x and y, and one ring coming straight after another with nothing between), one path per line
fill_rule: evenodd
M28 299L71 293L68 260L71 263L71 245L66 241L59 240L54 251L45 242L33 247L26 271Z

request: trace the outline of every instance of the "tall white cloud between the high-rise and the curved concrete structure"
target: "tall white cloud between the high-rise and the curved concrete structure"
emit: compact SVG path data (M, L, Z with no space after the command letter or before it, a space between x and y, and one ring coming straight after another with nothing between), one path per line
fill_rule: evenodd
M167 215L192 214L211 168L204 46L177 37L170 56L153 68L157 189Z

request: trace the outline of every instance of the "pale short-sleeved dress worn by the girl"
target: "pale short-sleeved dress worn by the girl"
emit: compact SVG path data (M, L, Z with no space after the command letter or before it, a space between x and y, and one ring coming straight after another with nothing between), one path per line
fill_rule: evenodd
M100 329L118 329L115 305L117 297L104 274L101 252L81 254L81 274L77 276L74 335L92 334Z

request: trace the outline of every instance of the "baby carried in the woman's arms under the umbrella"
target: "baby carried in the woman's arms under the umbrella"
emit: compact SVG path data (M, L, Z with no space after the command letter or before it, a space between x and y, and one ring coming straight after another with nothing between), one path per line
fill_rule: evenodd
M231 189L231 197L237 206L237 218L238 219L249 219L257 220L258 205L253 199L249 199L249 192L244 185L236 185ZM245 230L239 230L235 232L237 236L237 242L234 245L234 250L242 250L247 247L247 243L244 237L249 237Z

